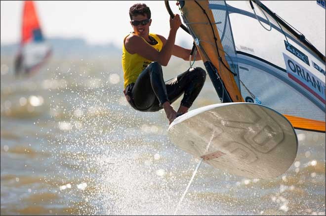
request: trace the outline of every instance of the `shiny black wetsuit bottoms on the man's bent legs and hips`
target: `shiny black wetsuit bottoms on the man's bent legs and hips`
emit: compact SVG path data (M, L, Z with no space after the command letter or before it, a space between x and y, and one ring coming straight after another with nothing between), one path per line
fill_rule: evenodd
M206 72L196 67L164 82L162 66L152 62L140 73L135 83L126 86L125 96L134 109L156 112L163 108L164 102L171 104L183 94L181 105L189 108L202 90L205 79Z

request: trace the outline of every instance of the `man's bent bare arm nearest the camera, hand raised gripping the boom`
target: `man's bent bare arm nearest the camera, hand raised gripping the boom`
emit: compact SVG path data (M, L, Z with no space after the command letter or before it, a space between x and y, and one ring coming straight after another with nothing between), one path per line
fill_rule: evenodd
M138 53L139 55L151 61L157 61L161 65L166 66L171 58L173 46L175 42L175 35L181 25L179 15L175 15L173 19L170 18L170 32L169 36L163 44L161 52L158 52L154 47L144 42L138 35L130 35L124 42L125 48L131 54Z

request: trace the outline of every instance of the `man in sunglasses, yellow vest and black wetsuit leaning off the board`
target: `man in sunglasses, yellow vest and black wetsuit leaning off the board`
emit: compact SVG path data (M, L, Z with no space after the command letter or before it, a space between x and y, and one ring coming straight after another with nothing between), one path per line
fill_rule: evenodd
M170 18L167 39L149 33L152 19L146 4L132 5L129 16L133 32L123 40L123 92L128 103L136 110L155 112L163 108L171 124L191 107L204 86L206 72L200 67L189 68L176 78L164 82L162 65L168 64L171 55L189 60L191 53L190 49L174 44L176 32L181 25L180 16L176 14L173 19ZM201 60L201 57L198 55L196 60ZM183 98L176 112L171 103L182 93Z

